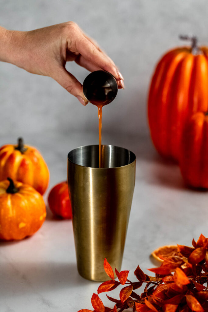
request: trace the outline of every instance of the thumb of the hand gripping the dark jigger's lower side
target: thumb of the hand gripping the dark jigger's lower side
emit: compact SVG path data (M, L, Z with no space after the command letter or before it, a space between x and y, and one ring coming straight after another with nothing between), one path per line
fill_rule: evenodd
M87 105L88 100L85 98L82 85L80 82L68 72L65 68L59 68L54 75L51 76L62 87L64 87L70 94L74 95L82 105Z

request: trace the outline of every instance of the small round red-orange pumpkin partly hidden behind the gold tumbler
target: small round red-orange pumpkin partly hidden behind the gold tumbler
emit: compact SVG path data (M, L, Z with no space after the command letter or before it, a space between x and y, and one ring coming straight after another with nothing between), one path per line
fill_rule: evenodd
M67 181L56 184L48 195L48 204L54 215L71 219L71 202Z

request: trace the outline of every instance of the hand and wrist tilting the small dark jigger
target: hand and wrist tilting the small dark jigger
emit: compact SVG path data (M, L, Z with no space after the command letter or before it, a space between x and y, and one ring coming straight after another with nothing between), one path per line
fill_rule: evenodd
M124 89L123 76L114 62L75 22L29 32L5 30L4 38L7 40L0 50L0 60L33 74L52 77L83 105L88 101L81 83L65 69L67 61L75 61L89 71L109 71L117 80L118 88Z

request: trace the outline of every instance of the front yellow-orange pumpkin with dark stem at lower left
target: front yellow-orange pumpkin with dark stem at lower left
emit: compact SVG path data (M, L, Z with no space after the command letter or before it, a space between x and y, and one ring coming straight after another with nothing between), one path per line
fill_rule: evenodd
M31 186L8 180L0 182L0 239L20 240L41 227L46 205Z

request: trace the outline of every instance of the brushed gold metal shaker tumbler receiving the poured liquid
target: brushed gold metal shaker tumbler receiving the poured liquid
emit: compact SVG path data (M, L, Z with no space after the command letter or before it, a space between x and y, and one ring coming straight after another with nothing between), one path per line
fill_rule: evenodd
M68 188L72 206L77 268L88 280L104 281L104 258L121 269L135 184L136 156L102 145L73 149L68 154Z

